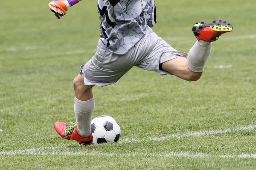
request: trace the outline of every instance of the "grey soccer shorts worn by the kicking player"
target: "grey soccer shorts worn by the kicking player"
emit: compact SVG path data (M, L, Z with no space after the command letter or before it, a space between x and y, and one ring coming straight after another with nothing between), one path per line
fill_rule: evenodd
M180 56L186 57L186 53L172 48L148 27L144 37L124 55L109 52L99 40L96 54L81 65L80 75L84 73L85 85L99 87L114 84L134 66L160 75L171 75L159 70L159 64Z

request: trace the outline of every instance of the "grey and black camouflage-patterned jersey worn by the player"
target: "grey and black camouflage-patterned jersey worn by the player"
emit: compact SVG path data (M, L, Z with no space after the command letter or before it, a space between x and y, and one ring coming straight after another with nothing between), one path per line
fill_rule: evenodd
M98 0L101 39L116 54L126 54L156 24L154 0Z

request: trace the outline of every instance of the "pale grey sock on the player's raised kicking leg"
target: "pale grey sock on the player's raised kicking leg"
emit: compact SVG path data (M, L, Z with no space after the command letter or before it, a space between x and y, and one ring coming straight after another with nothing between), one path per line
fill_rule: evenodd
M204 65L210 57L212 42L199 40L189 50L188 53L188 66L191 71L203 72Z

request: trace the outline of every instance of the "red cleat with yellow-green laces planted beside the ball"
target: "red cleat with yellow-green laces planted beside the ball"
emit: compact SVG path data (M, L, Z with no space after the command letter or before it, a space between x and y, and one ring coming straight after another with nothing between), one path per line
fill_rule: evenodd
M93 143L92 133L87 138L82 138L77 133L76 123L70 122L70 124L73 124L73 125L69 125L64 122L55 122L54 128L57 131L57 133L64 139L75 140L79 142L79 144L83 144L83 145L90 145Z

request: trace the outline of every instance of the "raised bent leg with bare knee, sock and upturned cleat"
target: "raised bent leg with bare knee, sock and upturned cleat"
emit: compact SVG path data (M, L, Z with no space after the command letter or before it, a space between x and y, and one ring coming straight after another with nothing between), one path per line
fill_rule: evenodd
M218 40L221 34L232 30L233 26L222 20L214 20L212 23L204 23L203 21L196 23L192 31L198 41L189 50L187 59L177 57L169 60L163 63L162 69L187 81L200 79L205 63L210 57L212 42Z

